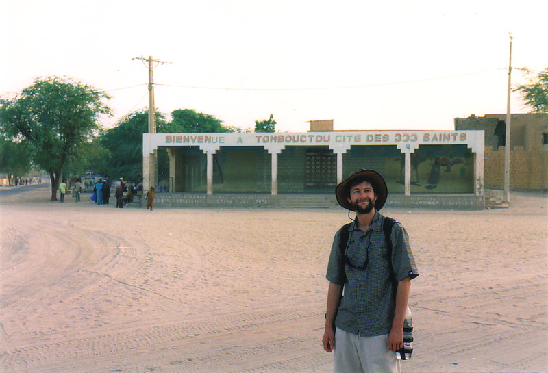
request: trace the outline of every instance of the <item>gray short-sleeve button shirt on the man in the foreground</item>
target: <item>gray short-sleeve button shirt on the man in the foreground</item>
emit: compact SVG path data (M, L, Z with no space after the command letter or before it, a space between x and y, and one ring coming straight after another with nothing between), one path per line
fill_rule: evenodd
M327 280L344 285L335 325L362 337L390 332L395 311L390 266L397 281L406 276L414 279L419 275L409 236L399 223L394 224L390 234L393 248L392 257L388 258L383 222L384 216L375 211L367 231L360 231L356 222L350 225L346 256L351 265L358 268L351 268L340 252L340 229L335 234L329 255Z

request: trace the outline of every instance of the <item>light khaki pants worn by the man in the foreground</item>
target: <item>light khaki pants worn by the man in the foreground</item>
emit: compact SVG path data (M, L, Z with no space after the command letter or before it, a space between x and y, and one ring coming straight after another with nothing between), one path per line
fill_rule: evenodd
M360 337L335 331L334 373L400 373L396 353L388 350L388 334Z

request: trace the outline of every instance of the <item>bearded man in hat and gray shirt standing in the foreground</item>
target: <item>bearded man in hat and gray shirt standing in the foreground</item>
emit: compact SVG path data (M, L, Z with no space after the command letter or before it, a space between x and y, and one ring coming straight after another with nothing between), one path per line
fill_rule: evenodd
M356 211L356 219L345 228L344 251L339 229L329 255L323 348L334 351L334 372L399 372L395 351L403 346L410 280L418 276L408 235L399 223L393 225L388 258L385 218L379 214L388 188L378 172L357 170L335 193L341 206Z

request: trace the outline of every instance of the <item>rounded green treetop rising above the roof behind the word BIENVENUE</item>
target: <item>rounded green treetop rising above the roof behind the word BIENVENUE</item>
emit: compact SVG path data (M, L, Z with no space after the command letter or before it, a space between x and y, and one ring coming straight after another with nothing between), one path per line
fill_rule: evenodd
M195 112L192 109L177 109L171 112L171 123L166 133L225 133L234 132L233 127L225 127L223 121L210 114Z

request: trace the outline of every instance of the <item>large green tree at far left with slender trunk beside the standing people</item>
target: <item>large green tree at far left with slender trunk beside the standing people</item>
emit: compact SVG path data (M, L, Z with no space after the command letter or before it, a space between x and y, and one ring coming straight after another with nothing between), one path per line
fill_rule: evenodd
M99 129L101 115L110 115L105 92L71 78L38 78L14 99L0 102L0 125L12 140L23 140L34 164L49 173L51 201L62 173L79 146Z

